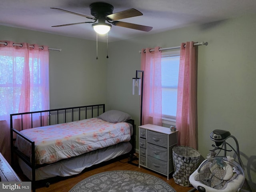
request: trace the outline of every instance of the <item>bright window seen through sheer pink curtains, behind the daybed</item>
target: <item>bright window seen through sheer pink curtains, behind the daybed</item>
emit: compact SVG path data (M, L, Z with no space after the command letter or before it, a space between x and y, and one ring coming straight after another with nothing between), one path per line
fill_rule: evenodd
M42 54L44 55L44 54ZM5 119L11 113L20 110L20 96L24 90L24 81L30 81L29 108L30 111L46 109L48 106L48 62L44 57L33 55L29 57L29 77L24 78L25 58L19 54L0 54L0 119ZM43 61L43 62L42 62ZM25 105L25 104L24 104Z

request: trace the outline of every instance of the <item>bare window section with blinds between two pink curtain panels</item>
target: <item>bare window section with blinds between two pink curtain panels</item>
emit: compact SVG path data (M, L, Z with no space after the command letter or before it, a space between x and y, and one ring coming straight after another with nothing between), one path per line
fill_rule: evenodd
M162 52L162 118L176 120L180 51Z

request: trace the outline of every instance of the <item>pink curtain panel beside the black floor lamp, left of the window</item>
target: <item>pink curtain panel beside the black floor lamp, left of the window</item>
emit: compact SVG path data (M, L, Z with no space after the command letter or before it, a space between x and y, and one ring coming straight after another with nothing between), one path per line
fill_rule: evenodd
M141 70L144 71L142 124L162 126L162 86L160 47L142 49ZM144 50L146 51L144 53Z

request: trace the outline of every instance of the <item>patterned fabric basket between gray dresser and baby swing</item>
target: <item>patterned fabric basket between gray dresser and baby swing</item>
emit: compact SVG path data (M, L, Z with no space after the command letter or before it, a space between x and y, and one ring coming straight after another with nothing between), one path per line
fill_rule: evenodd
M198 168L200 152L189 146L175 146L172 149L174 182L181 186L192 186L189 176Z

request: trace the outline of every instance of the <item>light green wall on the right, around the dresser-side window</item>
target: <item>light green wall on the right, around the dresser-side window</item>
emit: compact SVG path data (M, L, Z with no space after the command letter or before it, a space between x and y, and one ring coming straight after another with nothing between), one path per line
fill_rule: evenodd
M132 95L132 78L140 70L139 50L172 47L181 42L208 42L198 46L198 143L206 157L214 144L214 129L228 130L240 144L242 160L254 168L256 180L256 15L141 36L109 45L107 100L139 124L139 98ZM137 130L138 135L138 130ZM232 139L230 139L232 143ZM138 148L138 144L137 144ZM252 184L251 184L252 185Z

